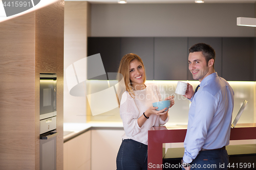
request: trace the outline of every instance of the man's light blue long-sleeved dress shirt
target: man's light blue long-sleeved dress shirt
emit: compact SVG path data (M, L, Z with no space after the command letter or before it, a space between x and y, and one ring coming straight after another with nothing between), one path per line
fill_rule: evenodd
M217 72L205 77L190 99L183 161L190 163L201 149L219 149L229 144L234 92Z

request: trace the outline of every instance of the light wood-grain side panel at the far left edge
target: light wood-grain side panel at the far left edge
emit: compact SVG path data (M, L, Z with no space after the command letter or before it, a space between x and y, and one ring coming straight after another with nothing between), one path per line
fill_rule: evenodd
M0 23L0 168L35 169L35 12Z

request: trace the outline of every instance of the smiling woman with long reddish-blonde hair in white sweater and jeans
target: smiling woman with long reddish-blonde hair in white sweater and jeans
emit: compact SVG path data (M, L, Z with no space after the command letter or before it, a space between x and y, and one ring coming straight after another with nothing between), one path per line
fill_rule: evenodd
M147 169L147 131L168 122L168 108L157 111L153 107L152 103L161 101L161 95L156 85L145 84L145 68L139 56L123 56L118 73L124 82L124 92L119 88L118 96L125 134L117 154L117 170ZM174 105L173 98L165 99L170 100L170 107Z

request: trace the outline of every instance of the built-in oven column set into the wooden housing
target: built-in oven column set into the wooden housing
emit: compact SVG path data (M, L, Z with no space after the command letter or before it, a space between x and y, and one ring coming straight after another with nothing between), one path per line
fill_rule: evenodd
M56 170L56 74L40 74L40 170Z

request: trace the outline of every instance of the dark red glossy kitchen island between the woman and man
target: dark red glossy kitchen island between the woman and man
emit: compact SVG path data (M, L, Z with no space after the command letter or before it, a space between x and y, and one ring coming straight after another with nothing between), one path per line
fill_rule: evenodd
M147 169L163 169L163 143L183 142L187 126L152 127L148 131L148 167ZM238 124L231 129L230 140L256 139L256 124ZM255 152L256 153L256 152ZM254 167L256 162L254 163Z

